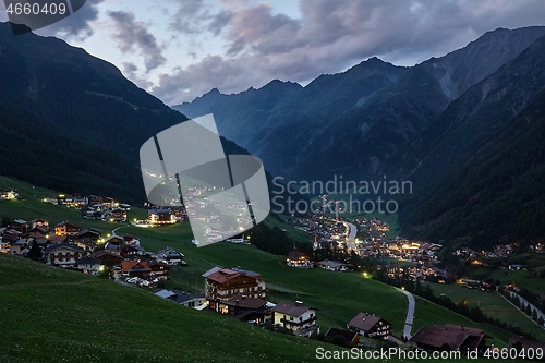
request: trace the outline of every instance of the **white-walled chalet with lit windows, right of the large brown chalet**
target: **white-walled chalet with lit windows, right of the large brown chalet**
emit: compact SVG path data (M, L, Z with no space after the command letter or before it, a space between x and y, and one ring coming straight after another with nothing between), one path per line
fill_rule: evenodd
M282 301L272 307L274 324L291 330L300 337L319 334L316 325L316 310L305 306L301 301Z

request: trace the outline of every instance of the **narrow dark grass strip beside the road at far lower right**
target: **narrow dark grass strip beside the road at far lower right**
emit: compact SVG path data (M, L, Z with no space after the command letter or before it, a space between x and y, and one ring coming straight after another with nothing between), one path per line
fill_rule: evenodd
M532 323L524 314L496 292L468 289L464 283L429 283L429 286L437 297L445 294L445 297L453 302L464 300L470 306L479 306L484 314L518 325L524 331L532 332L538 340L545 341L545 330Z

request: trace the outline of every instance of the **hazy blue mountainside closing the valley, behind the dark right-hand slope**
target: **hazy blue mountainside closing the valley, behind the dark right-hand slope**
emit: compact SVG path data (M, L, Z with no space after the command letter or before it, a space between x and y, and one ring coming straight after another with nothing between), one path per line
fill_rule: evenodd
M545 27L498 28L411 69L371 59L344 73L320 76L295 96L287 93L292 100L281 98L281 107L254 109L251 120L240 117L249 106L241 104L244 93L226 96L216 90L175 108L190 116L215 112L225 136L287 178L324 180L341 173L361 180L385 172L396 178L399 169L391 165L414 137L453 99L543 34ZM252 94L266 98L267 89Z

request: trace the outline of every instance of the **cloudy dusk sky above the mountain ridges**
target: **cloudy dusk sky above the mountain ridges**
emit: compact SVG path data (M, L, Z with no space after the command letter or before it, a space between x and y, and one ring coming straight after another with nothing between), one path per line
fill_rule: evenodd
M305 85L373 56L413 65L544 20L543 0L87 0L36 33L85 48L174 105L214 87Z

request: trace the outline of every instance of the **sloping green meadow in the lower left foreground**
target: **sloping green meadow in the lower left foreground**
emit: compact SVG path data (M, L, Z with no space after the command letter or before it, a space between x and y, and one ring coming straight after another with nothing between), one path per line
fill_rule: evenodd
M0 291L1 362L311 362L318 347L8 255Z

